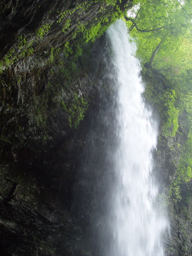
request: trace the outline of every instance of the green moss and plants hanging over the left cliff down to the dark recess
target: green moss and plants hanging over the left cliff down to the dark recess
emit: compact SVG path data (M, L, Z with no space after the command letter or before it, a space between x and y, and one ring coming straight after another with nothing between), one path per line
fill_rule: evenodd
M85 1L81 4L77 4L72 10L67 10L60 14L57 12L59 15L55 17L54 20L58 23L58 27L61 27L60 29L63 33L68 33L71 29L71 20L73 20L74 17L78 19L78 15L79 18L89 15L90 7L94 3L101 4L99 5L101 6L99 11L103 15L99 15L98 19L94 17L89 24L81 19L81 22L76 24L76 27L71 30L71 41L64 42L62 48L54 44L46 49L46 52L42 52L44 65L37 61L35 68L30 70L30 77L34 79L35 84L33 93L27 95L27 97L30 96L29 102L25 102L24 105L26 105L23 106L23 102L18 99L18 102L16 102L17 106L15 106L13 102L12 105L8 106L12 111L9 117L17 118L17 120L13 118L11 125L14 126L14 122L17 122L18 125L14 126L14 138L9 137L9 127L6 127L6 125L1 126L2 143L11 142L14 145L29 144L30 141L28 141L26 137L26 133L29 135L29 127L31 129L30 134L33 132L34 134L40 134L39 139L41 137L41 140L46 140L49 137L48 134L50 135L50 132L53 132L49 131L47 128L48 116L52 115L54 118L57 110L60 108L62 108L68 116L68 125L73 128L78 127L79 122L84 118L84 113L89 106L89 101L85 93L80 95L78 89L75 88L76 78L79 75L76 61L78 61L79 56L82 54L84 44L88 44L90 41L94 42L97 37L105 32L111 23L117 18L123 17L116 2L117 1L114 0ZM106 4L111 5L111 11L109 11L110 8L106 8ZM42 40L52 31L53 24L54 26L57 25L56 22L44 23L34 32L33 39L28 39L27 36L21 35L16 44L0 62L0 72L2 73L12 65L14 67L15 63L19 60L32 56L34 49L37 50L42 44ZM72 38L75 40L72 40ZM86 62L87 60L83 61ZM48 72L48 69L50 72ZM44 74L44 71L46 74ZM86 72L84 72L84 74L83 72L80 72L82 77L86 76ZM59 79L57 79L57 77L59 77ZM3 76L2 79L4 79ZM8 86L1 86L0 95L3 104L11 94L18 93L18 88L19 90L23 90L22 86L26 83L27 76L25 76L25 74L18 74L17 78L14 78L14 80L11 78L10 81L10 84L8 84L7 81L1 81L1 84L8 84ZM71 98L63 97L62 93L63 95L70 95ZM15 109L16 112L14 112ZM19 116L21 115L26 117L25 125L22 123L22 120L19 120ZM2 117L2 123L7 123L6 115ZM25 127L25 131L22 130L23 127Z

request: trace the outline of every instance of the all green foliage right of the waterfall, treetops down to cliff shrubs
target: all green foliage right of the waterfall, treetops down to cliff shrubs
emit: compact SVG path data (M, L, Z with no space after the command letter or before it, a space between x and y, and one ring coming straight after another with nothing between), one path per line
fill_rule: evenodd
M175 136L178 116L185 113L181 128L189 133L188 140L169 191L177 202L180 185L188 187L192 177L192 4L189 0L141 0L126 19L147 76L144 96L159 112L163 135ZM165 80L159 79L159 71Z

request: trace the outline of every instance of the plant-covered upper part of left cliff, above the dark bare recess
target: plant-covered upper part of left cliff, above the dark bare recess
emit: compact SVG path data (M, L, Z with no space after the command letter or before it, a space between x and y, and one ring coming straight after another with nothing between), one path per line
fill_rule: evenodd
M74 64L68 56L72 54L76 59L82 44L101 34L112 16L114 19L119 15L123 2L117 6L110 1L3 2L0 27L4 42L0 58L3 147L10 143L12 147L18 146L19 142L27 145L29 140L44 144L53 133L58 133L54 120L57 111L63 111L60 114L65 123L60 131L76 127L87 108L89 90L83 90L82 85L87 82L84 63ZM74 106L78 108L76 112Z

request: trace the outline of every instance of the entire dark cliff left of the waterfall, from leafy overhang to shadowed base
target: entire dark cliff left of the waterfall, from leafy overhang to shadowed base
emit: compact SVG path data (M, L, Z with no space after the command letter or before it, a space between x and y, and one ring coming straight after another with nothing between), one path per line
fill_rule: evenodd
M78 221L80 205L72 210L86 145L81 128L89 125L88 117L81 120L102 101L90 72L97 46L83 44L101 34L125 4L1 4L1 255L98 255L91 219Z

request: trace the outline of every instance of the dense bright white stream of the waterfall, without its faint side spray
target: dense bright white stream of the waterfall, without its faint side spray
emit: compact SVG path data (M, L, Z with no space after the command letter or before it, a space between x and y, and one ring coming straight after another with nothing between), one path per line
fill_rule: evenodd
M120 141L111 156L118 185L111 192L113 206L109 225L113 241L107 254L163 256L161 234L167 223L154 207L158 191L151 174L157 128L142 99L140 64L134 57L136 47L129 42L125 23L118 20L106 34L119 88L117 133Z

